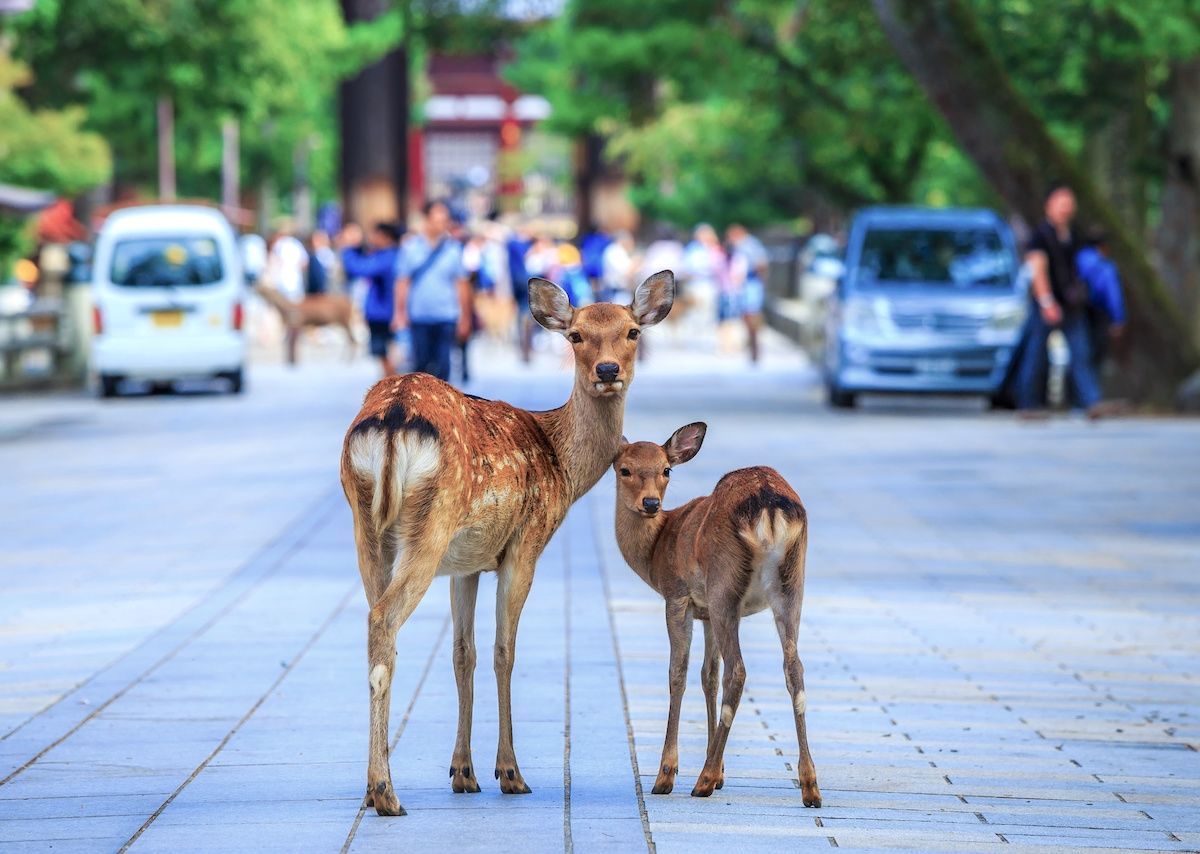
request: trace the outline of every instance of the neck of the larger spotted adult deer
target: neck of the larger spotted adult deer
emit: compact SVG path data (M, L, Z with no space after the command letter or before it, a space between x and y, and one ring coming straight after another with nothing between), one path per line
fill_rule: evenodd
M564 405L535 417L566 469L574 503L596 485L617 456L625 395L592 397L576 386Z

